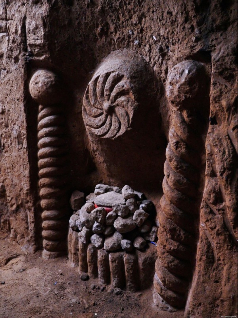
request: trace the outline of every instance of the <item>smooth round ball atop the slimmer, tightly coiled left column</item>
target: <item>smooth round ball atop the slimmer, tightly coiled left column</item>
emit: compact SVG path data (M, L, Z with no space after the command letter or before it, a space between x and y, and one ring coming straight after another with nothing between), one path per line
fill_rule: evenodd
M60 77L49 70L36 71L31 78L29 88L31 97L41 105L61 103L64 99Z

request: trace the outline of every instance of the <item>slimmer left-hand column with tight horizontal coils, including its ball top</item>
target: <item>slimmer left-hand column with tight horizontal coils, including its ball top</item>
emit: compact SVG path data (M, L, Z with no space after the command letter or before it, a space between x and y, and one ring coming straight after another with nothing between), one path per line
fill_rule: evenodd
M58 76L51 71L39 70L31 78L30 93L39 104L38 174L46 259L66 251L68 168L62 92Z

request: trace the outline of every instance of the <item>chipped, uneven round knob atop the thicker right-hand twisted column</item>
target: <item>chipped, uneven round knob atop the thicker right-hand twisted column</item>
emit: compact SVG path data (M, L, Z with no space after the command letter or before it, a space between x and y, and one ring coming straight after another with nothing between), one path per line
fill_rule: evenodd
M201 96L207 92L205 66L196 61L183 61L168 73L167 100L178 110L201 107Z

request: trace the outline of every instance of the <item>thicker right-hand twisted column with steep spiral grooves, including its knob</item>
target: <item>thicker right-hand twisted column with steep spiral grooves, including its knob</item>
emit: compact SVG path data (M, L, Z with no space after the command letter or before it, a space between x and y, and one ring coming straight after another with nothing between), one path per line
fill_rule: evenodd
M185 306L195 263L201 176L205 173L206 78L201 63L185 61L171 70L166 84L167 99L174 109L158 216L154 302L169 311Z

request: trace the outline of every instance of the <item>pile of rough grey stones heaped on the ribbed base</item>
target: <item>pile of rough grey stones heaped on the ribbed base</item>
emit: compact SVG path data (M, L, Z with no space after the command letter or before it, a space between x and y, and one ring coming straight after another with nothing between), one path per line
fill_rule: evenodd
M82 243L91 242L108 252L145 250L148 242L156 240L157 227L153 226L154 205L144 198L128 185L119 189L98 184L84 204L84 194L74 191L70 204L77 211L70 218L70 227L79 232Z

